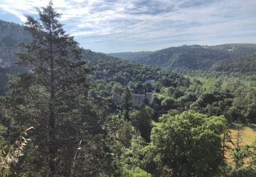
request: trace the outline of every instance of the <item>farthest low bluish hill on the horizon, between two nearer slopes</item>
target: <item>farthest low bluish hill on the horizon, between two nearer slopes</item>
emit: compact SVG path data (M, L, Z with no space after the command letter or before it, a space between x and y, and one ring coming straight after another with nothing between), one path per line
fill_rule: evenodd
M120 52L120 53L109 53L107 55L111 57L116 57L119 59L125 59L128 61L134 61L136 59L139 59L140 57L145 57L148 54L151 54L152 52Z

